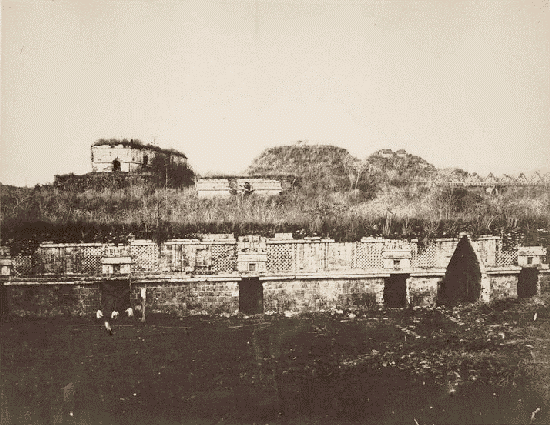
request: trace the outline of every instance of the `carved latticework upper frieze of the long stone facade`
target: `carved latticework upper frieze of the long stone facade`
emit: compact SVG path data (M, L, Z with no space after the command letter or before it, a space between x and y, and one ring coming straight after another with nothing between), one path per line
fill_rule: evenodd
M252 238L245 237L245 238ZM259 238L259 237L257 237ZM240 253L265 255L267 274L295 274L387 269L428 270L447 267L458 239L436 239L428 244L417 240L363 238L359 242L338 243L331 239L295 240L291 235L260 238L260 248L246 247L233 235L205 235L202 239L173 239L160 245L149 240L134 240L127 245L81 243L43 243L32 255L12 257L12 275L87 275L102 274L104 257L128 255L133 273L227 274L237 272ZM518 264L518 249L505 251L499 237L473 240L483 267ZM403 254L406 254L403 256ZM404 261L393 261L393 260Z

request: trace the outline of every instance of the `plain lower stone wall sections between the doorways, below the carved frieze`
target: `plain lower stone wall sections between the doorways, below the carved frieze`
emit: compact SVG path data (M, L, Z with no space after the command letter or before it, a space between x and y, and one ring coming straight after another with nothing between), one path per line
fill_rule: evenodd
M489 300L518 296L519 267L491 270L487 273ZM255 277L261 287L262 311L306 312L334 308L377 307L387 304L385 290L392 284L393 273L303 274L294 276ZM403 297L411 307L434 306L444 271L397 274L406 279ZM132 305L140 304L142 288L146 288L146 308L149 313L179 316L206 312L208 314L239 311L243 296L238 276L181 275L148 276L131 280ZM100 278L69 280L4 279L2 289L5 314L16 316L93 316L100 306ZM550 292L550 271L538 271L537 293Z

